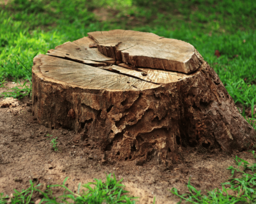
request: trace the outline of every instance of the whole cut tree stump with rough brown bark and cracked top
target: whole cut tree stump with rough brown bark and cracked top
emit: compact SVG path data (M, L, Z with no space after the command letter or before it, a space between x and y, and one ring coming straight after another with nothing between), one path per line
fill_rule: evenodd
M138 164L175 163L189 146L254 148L254 129L193 45L136 31L88 35L34 58L39 123Z

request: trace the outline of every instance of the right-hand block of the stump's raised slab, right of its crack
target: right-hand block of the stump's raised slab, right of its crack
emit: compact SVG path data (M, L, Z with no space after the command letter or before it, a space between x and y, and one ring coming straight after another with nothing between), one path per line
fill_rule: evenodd
M200 65L194 46L181 40L168 38L137 44L123 50L122 61L136 67L183 73L195 71Z

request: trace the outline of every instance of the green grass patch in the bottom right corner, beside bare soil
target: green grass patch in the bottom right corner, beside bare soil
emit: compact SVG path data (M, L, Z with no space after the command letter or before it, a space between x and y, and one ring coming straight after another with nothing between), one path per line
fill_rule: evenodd
M251 151L254 159L256 155ZM179 196L182 200L189 203L255 203L256 201L256 163L250 164L249 162L236 156L234 158L237 167L229 166L231 170L231 179L222 184L222 189L214 189L202 195L195 187L188 182L187 188L190 193L180 195L176 188L170 192ZM242 177L234 177L234 174L242 174ZM180 203L179 202L179 203Z

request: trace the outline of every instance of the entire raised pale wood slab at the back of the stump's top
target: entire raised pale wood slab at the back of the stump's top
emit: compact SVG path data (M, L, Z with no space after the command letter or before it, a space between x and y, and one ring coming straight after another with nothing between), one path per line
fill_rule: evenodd
M105 56L136 67L189 73L198 69L200 61L193 45L152 33L113 30L88 35Z

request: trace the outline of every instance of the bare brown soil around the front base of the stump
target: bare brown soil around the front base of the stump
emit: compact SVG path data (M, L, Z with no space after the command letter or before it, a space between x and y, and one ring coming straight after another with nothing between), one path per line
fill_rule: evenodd
M0 98L3 100L3 98ZM54 151L47 134L58 137L59 151ZM140 197L138 203L177 203L179 199L169 192L173 187L180 193L187 192L186 184L206 190L221 187L231 175L227 167L234 165L231 156L216 152L209 155L199 149L183 149L183 164L162 166L149 162L136 166L132 161L102 162L102 152L97 146L76 143L73 131L52 130L37 123L31 113L29 99L20 101L17 108L0 109L0 192L10 195L36 184L61 184L65 177L68 187L77 190L78 183L92 182L94 178L105 181L105 173L115 173L123 178L125 190ZM87 144L88 145L88 144ZM238 152L239 157L253 162L251 154ZM54 190L53 195L60 195ZM36 199L36 198L35 198Z

